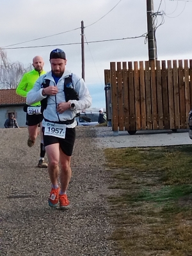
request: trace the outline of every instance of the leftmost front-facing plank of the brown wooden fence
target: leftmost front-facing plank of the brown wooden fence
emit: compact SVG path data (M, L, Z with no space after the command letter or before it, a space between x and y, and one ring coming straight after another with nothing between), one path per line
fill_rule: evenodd
M112 130L118 131L118 108L116 93L116 69L115 62L110 63L111 70L111 110L112 110Z

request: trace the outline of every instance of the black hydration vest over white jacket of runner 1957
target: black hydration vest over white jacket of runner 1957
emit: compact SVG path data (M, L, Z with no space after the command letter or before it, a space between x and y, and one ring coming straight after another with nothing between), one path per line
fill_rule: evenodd
M41 88L47 88L50 84L50 80L49 79L45 79L45 83L41 84ZM74 90L74 86L72 83L72 75L65 77L65 81L64 81L64 94L65 94L65 101L68 102L68 100L79 100L78 95L76 93L76 91ZM41 100L41 106L42 106L42 111L44 111L44 109L47 108L47 98L49 97L49 95Z

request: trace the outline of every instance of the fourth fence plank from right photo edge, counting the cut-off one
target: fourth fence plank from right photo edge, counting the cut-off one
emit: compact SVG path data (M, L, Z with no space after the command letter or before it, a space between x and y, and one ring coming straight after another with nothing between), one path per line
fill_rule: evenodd
M173 60L173 95L174 95L175 129L180 129L179 83L178 83L177 60Z

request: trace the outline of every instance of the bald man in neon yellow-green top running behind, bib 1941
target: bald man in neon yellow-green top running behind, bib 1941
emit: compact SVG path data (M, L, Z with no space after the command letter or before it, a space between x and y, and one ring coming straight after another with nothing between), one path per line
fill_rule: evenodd
M44 71L44 60L40 56L35 56L33 58L33 67L34 70L27 72L22 77L19 85L17 86L16 93L22 97L27 97L28 92L33 88L38 77L42 76L46 72ZM36 137L38 136L38 126L40 125L40 159L38 161L39 168L47 168L48 164L45 163L45 147L44 147L44 138L42 133L42 120L44 119L43 114L41 113L41 104L36 102L30 106L25 106L26 109L26 125L28 125L28 147L33 147L35 144Z

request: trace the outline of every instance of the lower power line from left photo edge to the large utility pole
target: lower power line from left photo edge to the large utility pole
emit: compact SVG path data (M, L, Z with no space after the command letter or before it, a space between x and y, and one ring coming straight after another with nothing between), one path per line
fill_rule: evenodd
M136 39L136 38L141 38L145 37L147 33L140 35L140 36L132 36L132 37L126 37L126 38L116 38L116 39L108 39L108 40L97 40L97 41L90 41L88 44L92 43L100 43L100 42L110 42L110 41L118 41L118 40L127 40L127 39ZM26 47L0 47L1 50L9 50L9 49L28 49L28 48L40 48L40 47L49 47L49 46L57 46L57 45L76 45L76 44L81 44L79 43L70 43L70 44L54 44L54 45L37 45L37 46L26 46Z

